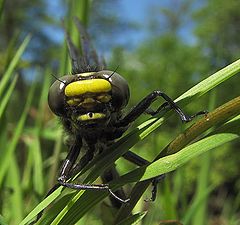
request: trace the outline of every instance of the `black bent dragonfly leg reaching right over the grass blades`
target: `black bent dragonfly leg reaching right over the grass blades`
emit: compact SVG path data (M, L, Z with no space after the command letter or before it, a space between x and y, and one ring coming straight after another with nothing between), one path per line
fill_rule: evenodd
M151 104L157 100L158 97L162 97L166 103L161 105L156 111L149 110L149 107ZM169 105L170 108L172 108L180 117L180 119L183 122L189 122L197 115L205 114L205 111L201 111L196 113L193 116L188 116L185 114L178 106L177 104L164 92L161 91L153 91L149 95L147 95L142 101L140 101L125 117L123 117L121 120L119 120L116 123L117 127L124 127L135 121L140 115L142 115L144 112L155 115L159 113L162 109L166 108L166 106Z

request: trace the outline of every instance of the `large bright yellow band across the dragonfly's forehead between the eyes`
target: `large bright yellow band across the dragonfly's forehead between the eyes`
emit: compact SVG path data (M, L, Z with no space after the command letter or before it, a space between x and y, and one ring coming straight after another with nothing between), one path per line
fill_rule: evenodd
M104 79L79 80L68 84L65 95L73 97L85 93L101 93L111 91L111 84Z

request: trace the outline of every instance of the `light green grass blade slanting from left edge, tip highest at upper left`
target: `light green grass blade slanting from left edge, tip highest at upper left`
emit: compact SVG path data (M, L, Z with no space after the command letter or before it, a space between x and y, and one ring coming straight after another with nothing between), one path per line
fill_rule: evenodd
M6 72L4 73L3 78L0 82L0 97L3 95L4 89L6 88L6 85L8 84L8 81L10 80L11 75L12 75L17 63L19 62L23 52L25 51L30 39L31 39L31 36L27 35L26 38L24 39L24 41L22 42L22 44L20 45L20 47L18 48L12 61L10 62Z

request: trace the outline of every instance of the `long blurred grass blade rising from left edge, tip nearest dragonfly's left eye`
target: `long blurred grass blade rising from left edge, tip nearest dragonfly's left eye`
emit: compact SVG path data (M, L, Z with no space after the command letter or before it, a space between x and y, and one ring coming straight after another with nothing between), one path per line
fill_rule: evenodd
M27 102L25 104L22 115L18 121L18 124L15 128L12 140L7 145L7 149L4 151L4 155L2 156L2 163L0 164L0 186L2 184L3 178L5 176L5 173L7 172L8 167L11 165L12 154L16 150L18 140L22 134L24 124L25 124L25 121L27 118L27 113L29 111L30 104L32 102L33 92L34 92L34 86L32 86L30 89L30 92L29 92L29 95L27 98Z

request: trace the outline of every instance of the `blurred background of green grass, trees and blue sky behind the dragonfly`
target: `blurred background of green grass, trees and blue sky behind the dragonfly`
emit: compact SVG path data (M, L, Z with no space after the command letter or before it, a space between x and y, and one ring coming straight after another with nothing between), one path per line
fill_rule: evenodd
M56 182L67 152L60 122L48 108L47 94L54 80L51 74L60 77L71 69L65 43L52 36L54 32L62 35L62 15L50 13L48 4L43 0L0 1L0 224L20 224L42 201ZM128 80L131 90L127 109L152 90L160 89L174 99L239 58L240 2L236 0L169 1L164 7L154 7L146 22L148 37L131 49L112 40L120 32L127 36L143 28L116 16L118 1L58 4L74 41L78 36L72 18L78 16L100 43L99 49L107 49L109 69L119 66L118 73ZM194 24L193 33L182 36L189 23ZM184 110L188 114L211 111L237 97L239 84L236 75ZM161 101L155 106L159 104ZM143 115L133 127L148 118ZM177 116L171 117L132 150L151 161L186 127ZM151 195L149 188L133 210L133 214L141 213L126 224L142 217L140 224L161 220L239 224L239 148L239 141L230 142L168 174L159 184L157 200L144 202ZM117 168L125 174L134 167L119 159ZM130 193L130 185L124 188ZM65 195L58 205L70 197ZM108 204L99 203L77 224L110 224ZM46 224L51 216L57 217L56 208L49 210L50 219L43 220Z

